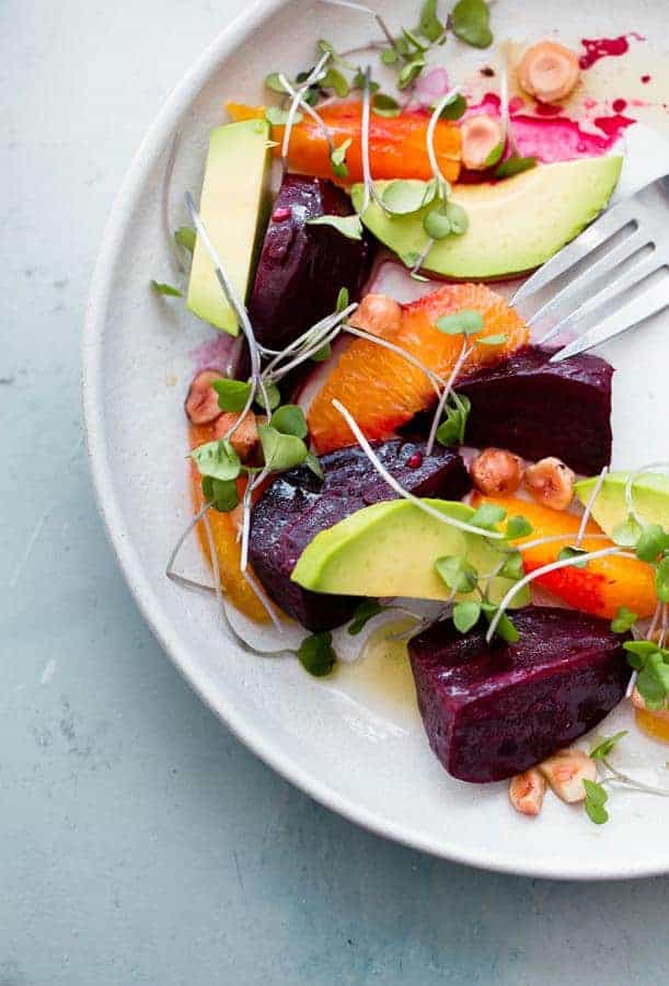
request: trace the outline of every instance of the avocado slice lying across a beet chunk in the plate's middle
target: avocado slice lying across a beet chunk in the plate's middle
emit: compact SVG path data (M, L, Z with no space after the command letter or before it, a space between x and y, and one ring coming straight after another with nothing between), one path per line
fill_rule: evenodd
M474 516L472 507L457 501L424 502L457 520L471 523ZM459 555L488 575L501 560L493 544L508 550L506 541L489 541L442 524L408 500L382 501L318 534L302 551L291 580L316 593L446 600L450 589L435 571L437 559ZM498 603L512 584L509 578L493 578L491 600ZM529 594L520 592L514 606L528 601Z

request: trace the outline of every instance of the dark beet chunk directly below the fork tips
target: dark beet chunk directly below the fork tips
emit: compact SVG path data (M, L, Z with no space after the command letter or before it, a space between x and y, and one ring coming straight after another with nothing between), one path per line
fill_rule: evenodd
M611 461L613 367L587 355L552 364L553 352L529 346L458 387L472 402L466 440L592 475Z

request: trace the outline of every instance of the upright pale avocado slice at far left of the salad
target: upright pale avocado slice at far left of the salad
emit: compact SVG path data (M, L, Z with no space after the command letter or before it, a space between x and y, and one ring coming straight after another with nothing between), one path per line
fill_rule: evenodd
M269 124L244 119L211 130L199 211L242 301L269 215ZM209 254L195 243L187 305L200 319L239 334Z

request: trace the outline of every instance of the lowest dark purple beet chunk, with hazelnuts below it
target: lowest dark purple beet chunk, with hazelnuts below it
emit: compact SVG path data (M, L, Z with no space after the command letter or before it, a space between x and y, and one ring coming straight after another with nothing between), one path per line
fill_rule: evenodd
M418 707L449 773L482 783L512 777L597 725L630 680L609 622L573 609L514 614L516 644L462 637L451 621L411 641Z

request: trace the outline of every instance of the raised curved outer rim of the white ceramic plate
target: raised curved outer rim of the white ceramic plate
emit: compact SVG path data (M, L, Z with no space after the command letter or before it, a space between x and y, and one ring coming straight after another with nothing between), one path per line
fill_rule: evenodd
M231 733L279 776L315 801L361 826L374 835L400 845L427 852L450 862L476 869L551 880L604 881L630 880L665 875L669 863L634 863L615 870L578 868L553 857L546 847L544 861L509 861L503 852L463 848L448 837L436 839L392 822L356 803L351 798L333 790L313 771L297 765L289 754L273 747L243 713L238 713L224 696L215 700L207 688L206 676L198 674L196 662L188 657L188 646L182 645L166 610L153 594L150 580L143 574L139 558L131 544L117 502L112 472L106 457L103 402L100 399L104 325L113 283L114 270L129 218L137 205L145 172L155 164L164 151L165 140L174 131L175 122L188 108L209 77L234 48L245 42L264 20L298 0L256 0L242 11L204 49L171 91L136 151L124 181L116 194L105 223L93 275L91 278L81 344L83 423L89 469L93 481L94 500L123 577L145 621L176 669L199 699L221 720Z

